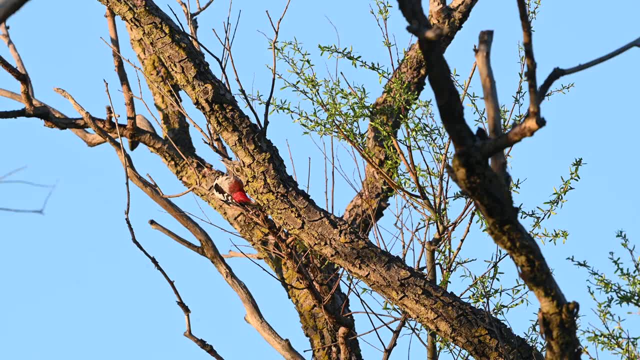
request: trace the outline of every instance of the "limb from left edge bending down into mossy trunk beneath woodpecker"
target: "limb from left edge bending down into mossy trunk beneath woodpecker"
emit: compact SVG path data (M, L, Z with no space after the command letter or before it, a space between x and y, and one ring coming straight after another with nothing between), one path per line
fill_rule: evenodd
M21 99L19 94L2 89L0 89L0 96L8 97L15 101L20 101ZM105 142L99 135L88 133L84 130L88 125L83 118L67 118L54 108L50 108L36 99L34 99L34 101L36 104L35 113L28 115L25 109L0 111L0 119L9 117L36 117L45 120L45 126L79 132L80 135L86 136L81 136L81 138L83 138L89 146L100 145ZM46 108L40 109L38 106ZM47 110L49 112L47 112ZM108 127L106 126L106 120L97 118L93 118L93 120L99 124L100 127L108 130L111 136L117 135L116 128L113 124ZM132 136L124 124L121 124L119 129L120 135L123 137ZM328 299L328 302L326 302L324 306L317 306L316 302L312 300L313 297L308 288L297 288L296 286L286 285L297 284L300 281L298 279L299 275L294 270L298 268L298 263L291 265L290 263L281 261L278 256L273 256L272 252L282 252L282 249L273 249L273 229L275 229L275 224L271 224L268 227L257 224L253 218L247 217L246 214L236 206L229 206L213 195L210 190L213 186L213 181L216 177L221 176L222 172L213 170L211 165L193 153L184 152L188 157L183 158L182 154L180 154L171 143L159 138L155 133L147 134L145 131L138 129L136 136L138 140L147 145L150 151L156 152L156 154L161 156L169 169L179 179L182 179L183 183L189 186L189 188L192 188L193 192L207 201L212 208L216 209L243 238L252 243L253 247L259 251L260 258L266 261L274 270L275 274L278 275L280 281L285 284L285 290L289 294L289 297L291 297L296 309L298 309L303 330L305 334L308 335L312 347L322 347L314 352L314 355L319 359L330 359L331 354L335 354L337 347L327 345L337 343L338 329L333 329L330 324L326 322L325 315L328 313L335 318L342 316L342 310L349 313L349 306L344 304L347 298L342 290L340 290L339 278L333 276L336 272L335 266L332 264L320 266L319 264L312 263L311 260L313 258L309 256L301 259L301 261L303 261L302 264L308 268L313 278L319 281L319 283L316 284L317 290L323 294L330 294L333 291L333 296ZM166 197L166 195L163 196ZM265 216L260 217L266 218ZM306 252L306 249L300 249L300 254L305 254ZM318 261L318 263L324 264L324 261ZM342 322L351 322L349 327L352 329L352 333L355 334L355 325L353 325L353 318L351 316L344 316ZM361 359L358 341L349 340L348 344L351 347L353 359Z

